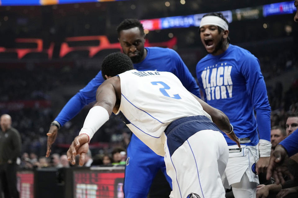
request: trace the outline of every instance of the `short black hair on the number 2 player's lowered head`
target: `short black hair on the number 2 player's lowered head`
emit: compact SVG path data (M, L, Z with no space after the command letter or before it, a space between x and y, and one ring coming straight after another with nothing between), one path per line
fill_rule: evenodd
M121 52L109 54L102 61L102 77L105 80L105 75L116 76L132 69L134 69L133 62L127 55Z

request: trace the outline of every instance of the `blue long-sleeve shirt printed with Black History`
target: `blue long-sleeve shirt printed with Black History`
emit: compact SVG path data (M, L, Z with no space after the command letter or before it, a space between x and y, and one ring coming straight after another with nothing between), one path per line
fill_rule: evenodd
M260 139L270 141L270 105L259 60L246 49L229 44L218 56L202 58L196 75L204 88L205 101L223 111L230 119L238 138L255 146ZM256 118L254 114L256 111ZM228 145L234 145L225 135Z

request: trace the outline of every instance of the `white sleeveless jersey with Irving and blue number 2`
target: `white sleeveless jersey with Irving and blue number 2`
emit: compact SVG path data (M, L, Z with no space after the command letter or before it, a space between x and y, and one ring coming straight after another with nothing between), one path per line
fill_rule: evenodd
M170 72L130 70L119 74L119 110L130 122L129 129L156 154L165 156L166 127L172 121L196 115L211 120L201 104Z

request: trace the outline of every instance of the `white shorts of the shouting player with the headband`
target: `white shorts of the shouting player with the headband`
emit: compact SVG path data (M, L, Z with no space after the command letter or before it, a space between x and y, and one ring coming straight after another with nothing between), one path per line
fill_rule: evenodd
M235 152L237 145L228 146L230 149L227 168L222 176L225 188L230 188L233 183L239 183L244 174L250 182L259 184L259 177L253 172L253 165L259 160L259 148L256 146L241 145L241 152ZM231 152L235 149L233 152Z

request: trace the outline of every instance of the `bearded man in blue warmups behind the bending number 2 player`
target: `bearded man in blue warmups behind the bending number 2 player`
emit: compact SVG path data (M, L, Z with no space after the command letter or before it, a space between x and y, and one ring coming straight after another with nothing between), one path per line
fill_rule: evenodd
M159 47L144 48L144 29L137 19L125 19L120 23L117 31L123 52L133 61L135 69L172 72L188 91L200 97L195 79L174 50ZM96 100L96 90L103 81L100 71L63 107L47 133L47 156L50 155L51 145L56 139L58 129L78 114L85 105ZM154 153L134 134L127 148L127 157L123 187L126 198L147 197L152 180L160 169L171 186L171 179L166 174L164 158Z

